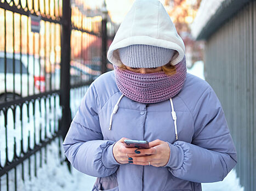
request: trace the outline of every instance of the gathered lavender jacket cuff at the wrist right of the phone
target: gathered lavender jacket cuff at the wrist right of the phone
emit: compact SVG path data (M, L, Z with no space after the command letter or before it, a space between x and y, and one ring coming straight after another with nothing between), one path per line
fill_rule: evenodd
M167 142L167 141L166 141ZM167 142L170 147L170 158L168 163L163 167L169 167L173 170L180 169L184 161L184 151L179 145L172 145Z

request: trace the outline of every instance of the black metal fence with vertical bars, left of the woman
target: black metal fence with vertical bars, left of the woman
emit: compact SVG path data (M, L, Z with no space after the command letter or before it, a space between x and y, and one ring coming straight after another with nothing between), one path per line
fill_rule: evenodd
M79 2L0 1L0 190L37 176L53 140L64 160L61 142L80 100L111 69L111 23L87 17Z

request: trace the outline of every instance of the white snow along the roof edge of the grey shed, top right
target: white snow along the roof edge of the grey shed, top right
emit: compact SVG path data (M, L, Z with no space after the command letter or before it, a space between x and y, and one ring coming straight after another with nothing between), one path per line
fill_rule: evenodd
M191 34L194 38L197 38L223 1L225 0L202 0L195 20L191 24Z

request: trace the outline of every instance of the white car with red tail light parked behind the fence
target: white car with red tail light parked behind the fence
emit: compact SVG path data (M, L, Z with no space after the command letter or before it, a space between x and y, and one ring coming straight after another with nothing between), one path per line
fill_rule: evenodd
M0 52L0 103L14 96L16 99L45 91L44 69L39 65L39 58L18 53L13 58L13 53L7 53L6 69L4 66L4 52Z

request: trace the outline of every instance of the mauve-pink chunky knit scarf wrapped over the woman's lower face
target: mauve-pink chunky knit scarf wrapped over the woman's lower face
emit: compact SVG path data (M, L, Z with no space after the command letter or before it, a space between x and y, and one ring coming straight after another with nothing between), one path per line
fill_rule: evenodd
M140 103L157 103L176 96L186 79L186 59L175 65L176 73L164 71L150 74L135 73L114 65L118 89L124 96Z

